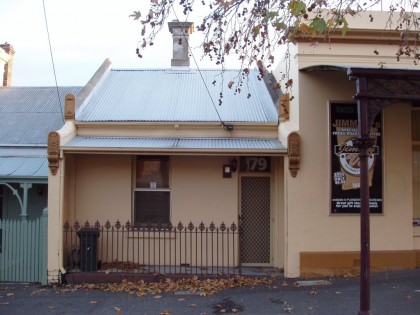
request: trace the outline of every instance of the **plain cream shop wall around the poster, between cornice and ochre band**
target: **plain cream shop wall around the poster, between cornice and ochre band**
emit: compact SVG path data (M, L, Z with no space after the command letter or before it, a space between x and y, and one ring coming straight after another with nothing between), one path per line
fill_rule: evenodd
M351 101L354 87L344 74L334 72L302 73L300 80L313 89L301 95L305 108L299 130L303 147L301 169L297 178L287 180L288 276L299 275L301 252L360 249L359 216L330 214L329 209L328 101ZM411 129L407 105L396 104L384 111L383 163L384 210L383 214L371 216L371 250L412 250Z

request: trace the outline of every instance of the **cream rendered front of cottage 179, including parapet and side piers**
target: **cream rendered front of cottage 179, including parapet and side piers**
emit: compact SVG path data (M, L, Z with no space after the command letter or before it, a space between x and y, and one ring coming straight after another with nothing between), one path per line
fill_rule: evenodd
M81 93L83 94L83 93ZM80 95L79 95L80 96ZM270 248L269 266L283 268L284 212L283 183L286 149L264 151L258 149L200 149L187 148L104 148L72 147L67 144L75 137L169 137L277 139L278 123L236 123L233 130L221 128L220 123L197 122L84 122L75 119L74 97L66 100L66 122L63 128L50 134L49 193L48 193L48 274L49 281L57 281L59 272L65 273L62 227L66 221L80 224L99 220L121 223L133 222L133 187L136 180L137 156L169 156L169 187L171 195L170 219L195 225L201 222L216 225L238 223L241 208L241 178L268 177L270 179ZM77 102L77 99L76 99ZM55 148L53 148L55 146ZM51 154L54 153L54 154ZM53 174L51 161L56 154L58 168ZM263 174L238 170L231 178L222 175L223 165L244 156L265 156L271 161L271 171ZM237 248L237 247L236 247ZM236 249L237 250L237 249ZM236 262L238 263L238 262Z

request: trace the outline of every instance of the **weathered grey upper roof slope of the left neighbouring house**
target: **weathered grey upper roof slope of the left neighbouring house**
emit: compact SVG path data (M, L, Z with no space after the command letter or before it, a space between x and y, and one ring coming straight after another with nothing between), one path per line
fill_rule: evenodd
M0 146L47 145L63 124L64 97L81 87L0 87ZM61 105L59 96L61 99Z

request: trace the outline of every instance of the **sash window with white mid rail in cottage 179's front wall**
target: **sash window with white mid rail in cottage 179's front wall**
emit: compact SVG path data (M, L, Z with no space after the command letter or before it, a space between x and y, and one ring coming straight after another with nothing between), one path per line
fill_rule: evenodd
M170 223L169 157L137 157L133 199L135 224Z

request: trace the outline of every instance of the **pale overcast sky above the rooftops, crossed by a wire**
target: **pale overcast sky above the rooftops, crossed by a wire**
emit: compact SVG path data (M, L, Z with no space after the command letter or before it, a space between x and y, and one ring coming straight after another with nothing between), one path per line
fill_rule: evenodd
M59 86L85 85L106 58L113 68L170 68L172 39L168 28L140 59L135 54L140 24L128 16L134 10L146 13L149 0L44 0ZM196 24L204 12L189 18ZM176 16L184 20L179 10ZM172 15L169 20L175 18ZM202 41L190 36L192 47ZM48 43L42 0L0 0L0 43L10 43L16 53L13 86L54 86L54 72ZM200 68L215 68L193 54ZM228 67L238 67L232 57ZM195 68L193 60L192 67Z

